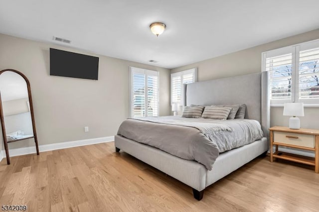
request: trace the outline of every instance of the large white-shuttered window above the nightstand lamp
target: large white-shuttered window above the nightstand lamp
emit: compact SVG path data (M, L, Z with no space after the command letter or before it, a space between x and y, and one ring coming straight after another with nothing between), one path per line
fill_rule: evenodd
M272 106L319 105L319 40L263 52L262 71L270 72Z

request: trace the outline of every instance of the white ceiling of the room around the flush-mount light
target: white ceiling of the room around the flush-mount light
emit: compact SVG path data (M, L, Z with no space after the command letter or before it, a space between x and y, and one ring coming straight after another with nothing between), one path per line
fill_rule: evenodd
M175 68L319 28L319 0L1 0L0 33ZM161 21L156 37L149 29ZM150 63L149 60L159 61Z

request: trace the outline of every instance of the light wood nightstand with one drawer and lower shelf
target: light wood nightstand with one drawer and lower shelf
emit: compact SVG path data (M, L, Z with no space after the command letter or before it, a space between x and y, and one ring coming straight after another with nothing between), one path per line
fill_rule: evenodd
M281 158L298 163L315 166L315 172L319 173L319 130L317 129L290 129L284 126L274 126L270 130L270 161ZM273 146L276 151L273 152ZM278 146L287 146L296 149L315 151L315 158L304 157L278 151Z

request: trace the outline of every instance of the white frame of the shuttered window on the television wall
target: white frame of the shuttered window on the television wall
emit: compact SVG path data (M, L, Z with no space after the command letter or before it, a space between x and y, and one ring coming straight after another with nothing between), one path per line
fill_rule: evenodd
M138 73L138 74L144 74L145 75L145 100L147 102L148 100L148 76L157 76L158 77L158 89L157 89L157 93L158 93L158 114L154 115L154 116L159 116L160 115L160 72L159 71L154 71L154 70L149 70L149 69L142 69L142 68L137 68L137 67L132 67L130 66L130 117L134 117L134 78L133 78L133 73ZM145 112L145 116L141 116L141 117L148 117L148 105L145 104L144 105L144 110ZM139 116L140 117L140 116Z

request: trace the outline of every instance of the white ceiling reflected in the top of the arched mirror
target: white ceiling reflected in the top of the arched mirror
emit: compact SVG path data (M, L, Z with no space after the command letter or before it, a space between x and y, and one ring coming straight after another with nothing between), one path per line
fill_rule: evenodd
M25 80L12 71L0 75L0 93L2 102L28 98Z

